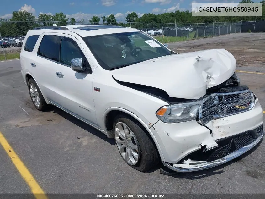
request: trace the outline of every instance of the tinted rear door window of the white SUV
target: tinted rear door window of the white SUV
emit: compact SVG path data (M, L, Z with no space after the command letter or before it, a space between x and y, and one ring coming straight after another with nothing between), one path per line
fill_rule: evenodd
M38 55L59 62L61 36L44 35L38 50Z

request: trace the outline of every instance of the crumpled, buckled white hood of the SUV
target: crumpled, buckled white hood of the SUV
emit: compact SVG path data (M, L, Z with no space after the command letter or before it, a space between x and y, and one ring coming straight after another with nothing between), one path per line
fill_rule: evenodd
M225 49L173 54L113 71L116 80L160 88L170 97L198 99L230 78L236 59Z

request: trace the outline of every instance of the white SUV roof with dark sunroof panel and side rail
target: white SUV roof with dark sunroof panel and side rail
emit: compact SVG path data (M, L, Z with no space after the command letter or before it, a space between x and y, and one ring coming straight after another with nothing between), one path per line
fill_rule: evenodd
M66 32L74 32L82 37L86 36L95 36L95 35L105 35L112 33L120 33L120 32L139 32L135 28L130 27L120 27L114 25L66 25L66 26L46 26L46 27L38 27L34 28L34 33L38 32L38 34L42 34L43 32L58 32L58 33L66 33Z

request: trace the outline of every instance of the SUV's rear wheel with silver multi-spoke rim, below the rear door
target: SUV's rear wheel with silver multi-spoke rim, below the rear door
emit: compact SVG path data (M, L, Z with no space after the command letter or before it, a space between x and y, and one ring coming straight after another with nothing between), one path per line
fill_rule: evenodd
M29 79L28 88L29 88L29 96L35 108L38 109L39 111L45 111L48 107L48 104L45 102L45 99L42 93L40 92L40 88L34 79L32 78Z

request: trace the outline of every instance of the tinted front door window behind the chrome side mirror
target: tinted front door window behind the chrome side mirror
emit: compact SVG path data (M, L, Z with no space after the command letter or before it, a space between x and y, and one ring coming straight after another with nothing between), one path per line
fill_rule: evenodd
M77 46L76 42L70 38L62 39L60 49L60 63L71 66L71 60L74 58L82 58L84 63L86 63L86 58L80 48Z

